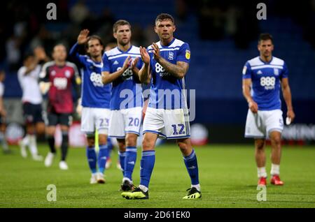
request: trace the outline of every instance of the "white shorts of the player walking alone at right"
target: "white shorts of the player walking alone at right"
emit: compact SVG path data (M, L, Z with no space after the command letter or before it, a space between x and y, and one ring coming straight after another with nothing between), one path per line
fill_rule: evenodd
M281 110L258 110L253 113L248 109L245 137L246 138L269 138L272 131L283 131L283 117Z

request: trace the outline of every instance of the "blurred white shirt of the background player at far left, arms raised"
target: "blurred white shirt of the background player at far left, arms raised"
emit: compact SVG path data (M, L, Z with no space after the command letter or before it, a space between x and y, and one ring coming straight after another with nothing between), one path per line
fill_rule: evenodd
M43 98L41 96L41 91L39 89L38 77L41 73L41 66L37 65L33 71L27 73L25 72L27 68L22 66L18 71L18 80L23 91L22 102L28 102L32 104L41 104Z

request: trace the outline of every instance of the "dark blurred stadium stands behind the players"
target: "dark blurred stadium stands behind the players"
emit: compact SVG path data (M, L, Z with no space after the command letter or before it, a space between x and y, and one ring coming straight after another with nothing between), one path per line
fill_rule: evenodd
M57 5L57 20L47 20L46 5ZM153 24L159 13L176 20L175 37L190 44L188 89L196 90L196 118L209 130L209 142L252 142L244 139L247 104L241 94L241 71L248 59L258 56L257 38L274 36L274 56L286 61L296 114L283 140L315 140L315 1L261 1L267 20L258 20L260 1L192 0L90 0L3 1L0 13L0 68L6 71L5 104L8 122L22 123L21 89L17 70L23 55L41 44L50 55L55 43L71 47L80 29L114 41L112 24L125 19L132 24L134 45L156 40ZM283 102L283 114L286 105ZM285 117L285 115L283 115ZM288 132L288 133L286 133Z

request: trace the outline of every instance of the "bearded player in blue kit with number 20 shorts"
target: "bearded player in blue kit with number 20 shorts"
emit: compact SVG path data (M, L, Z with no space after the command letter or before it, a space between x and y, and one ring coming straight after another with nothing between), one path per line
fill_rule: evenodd
M138 77L142 61L139 47L130 42L132 31L129 22L118 20L113 24L113 36L118 46L104 53L102 78L104 84L112 82L109 136L118 142L123 171L121 189L130 191L142 117L142 87Z

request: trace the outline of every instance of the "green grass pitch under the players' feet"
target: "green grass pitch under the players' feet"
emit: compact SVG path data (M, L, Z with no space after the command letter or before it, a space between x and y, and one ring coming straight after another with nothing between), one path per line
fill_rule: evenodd
M69 170L55 163L23 159L18 147L13 154L0 154L0 207L315 207L315 147L283 147L281 179L284 186L267 185L267 201L258 202L253 146L209 145L196 147L200 168L201 200L181 200L190 187L183 158L176 145L156 149L149 200L125 200L120 195L122 173L113 165L106 170L106 184L89 184L90 170L85 149L69 149ZM44 155L48 146L40 145ZM267 147L267 156L270 147ZM138 152L133 180L139 184ZM267 172L270 171L267 159ZM269 176L269 173L268 173ZM48 202L48 184L55 184L57 201Z

